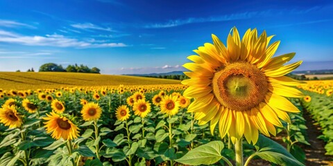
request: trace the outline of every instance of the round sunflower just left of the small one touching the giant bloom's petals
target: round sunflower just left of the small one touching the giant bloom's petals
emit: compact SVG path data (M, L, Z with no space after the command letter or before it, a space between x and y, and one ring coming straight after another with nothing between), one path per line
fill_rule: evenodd
M178 95L165 95L160 103L160 107L162 113L167 113L169 116L176 115L180 107Z

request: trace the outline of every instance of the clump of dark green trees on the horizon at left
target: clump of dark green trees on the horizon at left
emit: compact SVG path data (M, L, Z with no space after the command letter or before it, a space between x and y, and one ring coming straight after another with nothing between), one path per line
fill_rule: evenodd
M39 71L56 71L56 72L72 72L72 73L100 73L101 70L99 68L93 67L89 68L87 65L83 64L69 64L66 68L63 68L62 65L54 64L54 63L47 63L42 64L40 66Z

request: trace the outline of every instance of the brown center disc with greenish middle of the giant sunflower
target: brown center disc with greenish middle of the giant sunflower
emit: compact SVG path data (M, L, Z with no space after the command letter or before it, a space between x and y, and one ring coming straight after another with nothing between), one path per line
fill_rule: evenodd
M235 62L214 74L215 98L225 107L246 111L264 101L268 91L266 75L253 64Z

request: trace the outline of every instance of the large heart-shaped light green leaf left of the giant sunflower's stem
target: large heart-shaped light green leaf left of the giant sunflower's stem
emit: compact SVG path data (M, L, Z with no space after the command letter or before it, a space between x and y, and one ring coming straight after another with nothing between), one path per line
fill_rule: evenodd
M223 142L212 141L192 149L176 161L185 165L212 165L221 160L223 147Z

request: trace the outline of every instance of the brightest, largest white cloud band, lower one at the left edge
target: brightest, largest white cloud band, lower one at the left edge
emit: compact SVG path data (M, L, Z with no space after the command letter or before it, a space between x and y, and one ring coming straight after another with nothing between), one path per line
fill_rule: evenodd
M22 44L27 46L54 46L74 48L102 48L102 47L125 47L123 43L96 43L87 42L64 35L26 36L0 30L0 42Z

